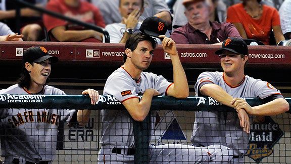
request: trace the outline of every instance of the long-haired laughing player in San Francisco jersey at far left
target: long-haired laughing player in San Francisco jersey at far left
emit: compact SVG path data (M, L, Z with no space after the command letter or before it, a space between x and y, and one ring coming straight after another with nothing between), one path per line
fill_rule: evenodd
M23 53L22 72L18 84L0 94L17 94L26 101L41 101L37 95L65 95L64 91L47 86L51 74L51 63L58 61L56 56L47 54L44 47L31 47ZM82 92L89 95L91 104L98 101L98 91L87 89ZM28 95L28 96L22 96ZM19 100L15 97L15 101ZM19 98L19 99L18 99ZM14 101L14 100L13 100ZM56 154L58 125L61 120L80 125L89 110L66 109L1 109L1 148L5 163L52 163Z

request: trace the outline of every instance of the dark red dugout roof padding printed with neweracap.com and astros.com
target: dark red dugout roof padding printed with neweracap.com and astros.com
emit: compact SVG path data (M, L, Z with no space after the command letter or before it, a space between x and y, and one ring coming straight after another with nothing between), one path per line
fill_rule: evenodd
M122 63L124 44L109 43L70 43L70 42L1 42L0 62L21 60L22 53L31 46L43 46L50 55L58 56L60 62L98 62L116 66ZM291 68L291 47L289 46L248 46L249 60L247 68ZM218 68L220 58L215 55L217 45L177 45L177 51L183 66L192 68ZM113 63L116 62L116 63ZM163 63L163 65L160 65ZM171 64L169 55L158 45L154 51L152 65ZM97 65L96 65L97 66Z

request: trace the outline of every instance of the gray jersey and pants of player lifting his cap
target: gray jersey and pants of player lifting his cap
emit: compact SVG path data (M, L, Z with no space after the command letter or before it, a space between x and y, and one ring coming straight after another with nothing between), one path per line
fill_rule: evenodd
M107 79L104 95L112 95L118 101L139 98L146 89L156 89L161 95L166 95L172 84L163 76L154 73L141 72L140 79L135 81L123 68L118 68ZM151 115L152 130L154 130L155 115ZM129 148L134 147L133 119L126 110L102 110L102 148L99 151L99 161L117 161L116 163L133 163L134 154L127 154ZM120 153L113 153L119 148ZM209 154L212 155L209 155ZM223 155L222 155L223 154ZM225 146L194 147L183 144L166 144L150 146L150 162L202 162L229 161L232 150Z

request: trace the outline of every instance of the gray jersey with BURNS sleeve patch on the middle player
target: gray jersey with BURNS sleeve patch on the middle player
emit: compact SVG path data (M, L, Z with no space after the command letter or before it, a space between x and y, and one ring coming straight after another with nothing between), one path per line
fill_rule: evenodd
M171 84L163 76L149 72L141 72L140 79L135 81L124 68L120 67L108 77L103 95L112 95L118 101L124 102L142 96L144 91L150 88L165 95ZM153 119L155 119L154 116L152 116L152 122L155 122ZM126 110L102 110L100 142L102 145L133 147L133 122Z

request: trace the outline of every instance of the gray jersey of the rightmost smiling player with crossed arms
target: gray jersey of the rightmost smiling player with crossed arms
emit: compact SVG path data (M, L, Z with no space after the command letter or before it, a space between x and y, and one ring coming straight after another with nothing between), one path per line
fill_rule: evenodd
M240 85L232 87L224 80L223 72L203 72L195 85L196 96L203 96L199 90L201 86L208 83L220 86L232 97L264 99L271 95L281 95L280 91L268 82L248 75ZM247 149L249 137L240 128L235 110L233 112L197 111L191 142L204 146L222 144L233 149L235 155L240 155Z

